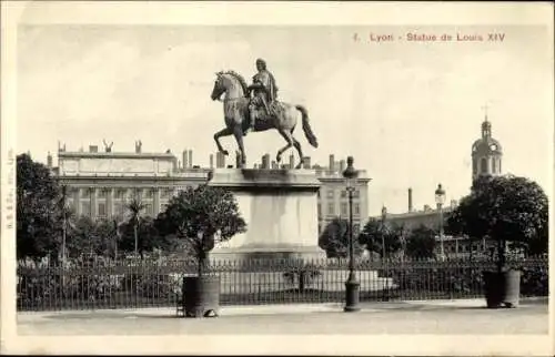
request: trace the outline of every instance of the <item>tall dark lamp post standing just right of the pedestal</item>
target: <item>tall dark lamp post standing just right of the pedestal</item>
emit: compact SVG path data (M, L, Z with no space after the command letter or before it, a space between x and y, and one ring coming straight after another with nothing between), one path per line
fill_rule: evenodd
M359 307L359 287L354 274L354 242L353 242L353 191L355 190L359 172L353 167L353 156L347 157L347 167L343 172L345 177L346 191L349 192L349 278L345 282L345 307L344 312L357 312Z

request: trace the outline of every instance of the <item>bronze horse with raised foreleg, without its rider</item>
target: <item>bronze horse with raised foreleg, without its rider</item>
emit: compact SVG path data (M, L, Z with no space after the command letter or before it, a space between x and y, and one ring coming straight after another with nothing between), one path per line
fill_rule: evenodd
M233 71L219 72L216 73L216 80L214 83L214 89L212 90L211 98L213 101L220 100L222 94L225 93L223 99L223 115L225 128L214 134L214 141L218 145L218 150L228 155L229 152L224 150L220 143L220 137L233 135L239 145L240 152L240 163L241 167L244 167L246 163L246 156L243 147L243 133L249 124L249 89L246 82L241 76L241 74ZM270 129L275 129L285 139L287 144L278 151L275 161L280 162L282 154L290 147L294 146L299 153L299 164L295 169L301 169L303 165L303 152L301 149L301 143L293 136L293 131L296 126L297 114L302 114L302 125L304 135L306 136L309 143L317 147L317 140L312 132L311 125L309 123L309 113L306 109L302 105L293 105L284 102L272 103L272 115L268 115L266 119L262 120L264 111L258 111L256 121L253 132L262 132Z

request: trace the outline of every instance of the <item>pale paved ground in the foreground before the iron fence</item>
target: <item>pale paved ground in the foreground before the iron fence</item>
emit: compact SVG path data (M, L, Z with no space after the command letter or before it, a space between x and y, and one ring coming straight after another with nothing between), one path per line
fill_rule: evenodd
M175 310L95 310L18 314L19 335L202 334L547 334L547 299L487 309L483 299L222 307L218 318L176 318Z

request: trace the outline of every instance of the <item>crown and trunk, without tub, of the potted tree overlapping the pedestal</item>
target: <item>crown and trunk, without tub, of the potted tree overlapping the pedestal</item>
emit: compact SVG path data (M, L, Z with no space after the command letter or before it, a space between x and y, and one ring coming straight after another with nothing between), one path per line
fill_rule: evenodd
M246 223L241 217L233 194L209 185L181 191L158 215L154 225L160 234L174 234L190 246L198 261L199 276L209 252L218 242L246 232Z

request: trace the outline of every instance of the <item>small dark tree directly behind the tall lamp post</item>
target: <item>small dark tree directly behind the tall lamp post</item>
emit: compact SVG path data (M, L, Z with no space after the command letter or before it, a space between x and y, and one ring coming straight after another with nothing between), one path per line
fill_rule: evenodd
M319 238L319 246L325 251L329 258L344 258L349 256L349 221L340 217L330 222ZM362 254L363 248L356 236L353 237L355 256Z

